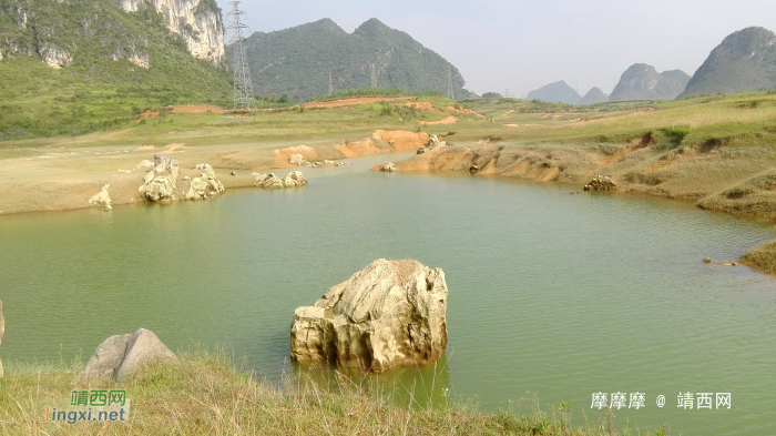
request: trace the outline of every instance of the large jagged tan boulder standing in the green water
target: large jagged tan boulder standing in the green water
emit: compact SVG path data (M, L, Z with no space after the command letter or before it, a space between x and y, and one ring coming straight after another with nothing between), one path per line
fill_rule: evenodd
M441 268L377 260L294 312L292 358L376 373L435 362L447 347L447 297Z

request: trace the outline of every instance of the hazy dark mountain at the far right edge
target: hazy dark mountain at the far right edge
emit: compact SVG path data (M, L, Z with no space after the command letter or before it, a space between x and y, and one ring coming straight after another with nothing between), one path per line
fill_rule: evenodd
M776 88L776 34L752 27L729 34L712 50L678 98L773 88Z

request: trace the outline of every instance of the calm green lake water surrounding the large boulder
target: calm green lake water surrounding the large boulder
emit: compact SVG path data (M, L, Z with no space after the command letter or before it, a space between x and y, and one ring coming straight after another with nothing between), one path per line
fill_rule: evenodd
M594 393L640 392L644 408L614 410L621 428L776 434L776 280L701 262L737 260L776 237L767 225L557 184L366 171L389 159L306 169L299 190L0 217L0 357L85 362L145 327L174 351L224 346L277 382L297 371L297 306L375 258L415 258L446 272L448 353L433 392L433 368L380 376L398 389L449 388L486 412L569 400L574 424L598 422ZM680 392L732 405L683 409Z

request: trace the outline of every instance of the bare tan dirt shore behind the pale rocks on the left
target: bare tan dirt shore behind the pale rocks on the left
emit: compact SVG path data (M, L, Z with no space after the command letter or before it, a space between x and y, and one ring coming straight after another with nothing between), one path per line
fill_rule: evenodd
M428 138L426 133L378 130L370 138L323 145L187 146L174 143L35 151L0 160L0 214L92 207L89 199L105 184L110 184L113 205L142 202L137 187L149 169L140 163L143 160L153 162L156 153L173 155L181 165L181 178L195 178L200 173L195 165L210 163L228 190L253 187L254 178L249 175L253 171L296 168L288 162L292 154L302 154L313 162L415 151L426 145ZM229 175L232 171L237 175Z

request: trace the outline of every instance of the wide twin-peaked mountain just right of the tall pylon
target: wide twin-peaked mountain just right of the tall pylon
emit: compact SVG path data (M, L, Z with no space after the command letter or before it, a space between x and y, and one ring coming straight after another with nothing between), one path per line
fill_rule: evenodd
M248 68L258 95L288 94L309 99L334 90L377 88L436 91L447 94L448 73L456 98L464 90L458 69L445 58L372 18L347 33L330 19L275 32L255 32L246 40ZM232 51L227 49L232 59ZM330 81L329 81L330 78Z

